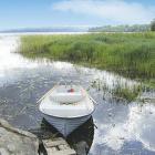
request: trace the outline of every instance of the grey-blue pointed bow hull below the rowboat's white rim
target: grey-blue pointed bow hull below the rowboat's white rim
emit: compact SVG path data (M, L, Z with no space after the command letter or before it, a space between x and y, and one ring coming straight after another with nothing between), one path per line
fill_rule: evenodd
M78 128L83 123L85 123L91 117L91 114L82 117L74 117L74 118L63 118L63 117L55 117L55 116L43 114L43 117L52 126L54 126L64 137L66 137L75 128Z

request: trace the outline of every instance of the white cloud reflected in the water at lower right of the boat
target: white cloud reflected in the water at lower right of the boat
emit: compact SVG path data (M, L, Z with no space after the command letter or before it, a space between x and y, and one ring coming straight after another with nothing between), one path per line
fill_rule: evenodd
M125 142L137 141L146 149L155 151L155 106L153 104L131 105L126 122L115 123L114 127L110 127L111 123L104 126L97 124L100 130L96 131L95 143L106 144L112 149L120 151Z

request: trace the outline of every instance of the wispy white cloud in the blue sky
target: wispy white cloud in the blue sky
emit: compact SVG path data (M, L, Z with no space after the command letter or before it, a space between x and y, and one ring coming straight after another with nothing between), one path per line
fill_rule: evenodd
M155 6L124 0L64 0L55 2L52 9L117 23L148 23L155 18Z

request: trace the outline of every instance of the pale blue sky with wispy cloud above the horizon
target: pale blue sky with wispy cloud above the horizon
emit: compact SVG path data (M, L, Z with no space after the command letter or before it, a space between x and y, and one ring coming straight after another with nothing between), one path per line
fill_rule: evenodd
M155 0L1 0L0 30L149 23Z

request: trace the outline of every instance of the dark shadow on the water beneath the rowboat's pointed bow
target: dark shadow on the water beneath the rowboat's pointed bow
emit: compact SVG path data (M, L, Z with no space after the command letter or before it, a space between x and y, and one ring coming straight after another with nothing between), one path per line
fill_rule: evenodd
M40 140L49 140L63 137L51 124L49 124L44 118L41 122L41 128L37 131L31 131L38 135ZM94 137L94 123L91 116L84 124L78 127L73 133L71 133L65 140L69 145L74 148L78 155L86 155L91 148ZM43 146L40 145L43 152Z

